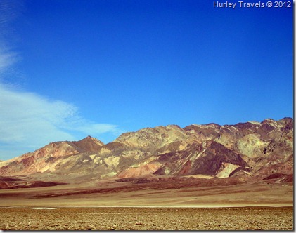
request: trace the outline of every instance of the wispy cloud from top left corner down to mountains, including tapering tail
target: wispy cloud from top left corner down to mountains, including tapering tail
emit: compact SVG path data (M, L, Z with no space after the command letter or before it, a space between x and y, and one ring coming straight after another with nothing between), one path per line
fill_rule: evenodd
M15 88L7 76L20 56L7 45L7 24L15 15L11 1L0 1L0 160L31 152L49 142L80 140L79 135L119 135L118 126L98 124L79 115L68 102Z

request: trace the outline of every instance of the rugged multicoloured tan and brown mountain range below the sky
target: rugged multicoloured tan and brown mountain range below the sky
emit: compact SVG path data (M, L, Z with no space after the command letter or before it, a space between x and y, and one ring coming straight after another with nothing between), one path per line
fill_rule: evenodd
M143 128L104 144L96 138L51 142L0 161L0 189L63 185L114 178L293 181L292 118L234 125ZM34 140L34 139L32 139Z

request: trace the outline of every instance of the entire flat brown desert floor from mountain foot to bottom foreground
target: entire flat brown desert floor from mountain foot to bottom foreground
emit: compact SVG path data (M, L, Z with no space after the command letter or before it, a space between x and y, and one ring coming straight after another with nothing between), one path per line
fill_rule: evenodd
M3 230L292 230L293 186L221 179L109 180L1 189L0 219Z

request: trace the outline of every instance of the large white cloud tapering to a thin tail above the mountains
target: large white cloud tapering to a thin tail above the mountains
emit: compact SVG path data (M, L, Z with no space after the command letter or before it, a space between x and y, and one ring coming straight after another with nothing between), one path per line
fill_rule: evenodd
M36 93L0 84L0 147L37 149L58 140L79 140L76 134L117 134L112 124L96 124L77 114L77 107ZM1 148L0 148L1 152ZM25 151L29 152L29 151ZM17 156L19 154L14 154ZM4 156L0 154L1 156Z

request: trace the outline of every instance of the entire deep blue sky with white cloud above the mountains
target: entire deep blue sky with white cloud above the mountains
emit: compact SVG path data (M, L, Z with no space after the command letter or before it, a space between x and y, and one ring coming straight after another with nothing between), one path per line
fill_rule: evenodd
M213 3L1 0L0 160L87 135L292 117L292 7Z

